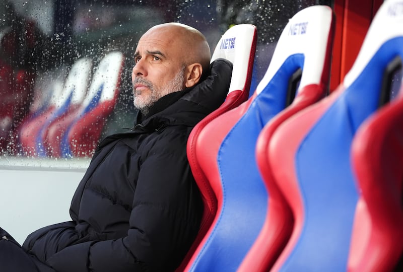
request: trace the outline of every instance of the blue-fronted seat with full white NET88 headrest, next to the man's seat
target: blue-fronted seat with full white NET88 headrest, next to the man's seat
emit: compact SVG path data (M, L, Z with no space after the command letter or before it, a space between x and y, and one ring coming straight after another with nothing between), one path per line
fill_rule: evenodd
M317 12L312 14L312 9ZM299 88L320 82L323 62L317 60L324 59L317 57L320 52L313 51L308 41L310 35L317 35L316 18L322 12L323 7L310 7L290 19L253 96L212 120L201 131L196 146L198 161L217 198L218 210L187 269L236 270L256 239L268 199L256 166L256 140L267 121L287 106L289 89L293 89L289 87L292 85L294 90L296 87L290 79L299 69L302 70ZM330 21L331 16L329 27ZM325 44L329 32L328 29L326 36L321 35Z

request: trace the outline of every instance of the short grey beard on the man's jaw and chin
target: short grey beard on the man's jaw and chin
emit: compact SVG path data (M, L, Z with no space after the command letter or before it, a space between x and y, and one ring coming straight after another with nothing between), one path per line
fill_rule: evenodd
M135 84L140 83L147 88L150 89L150 95L146 97L141 97L141 93L139 95L136 94L136 90L133 90L133 104L135 107L140 110L143 116L147 115L149 109L158 99L161 97L173 93L181 91L183 88L183 81L184 81L184 74L185 74L185 66L182 66L182 69L175 75L175 77L170 80L165 86L157 87L154 86L152 82L143 79L141 77L136 77L133 81L133 87Z

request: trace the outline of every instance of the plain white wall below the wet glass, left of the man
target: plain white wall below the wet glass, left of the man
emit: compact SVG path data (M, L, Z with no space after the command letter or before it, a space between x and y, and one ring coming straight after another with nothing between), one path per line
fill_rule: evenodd
M70 202L89 160L0 158L0 227L20 244L31 232L70 220Z

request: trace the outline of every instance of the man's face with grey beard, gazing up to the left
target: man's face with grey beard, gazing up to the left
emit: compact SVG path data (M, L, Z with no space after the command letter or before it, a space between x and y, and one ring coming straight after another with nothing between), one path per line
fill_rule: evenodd
M185 66L180 51L173 33L166 29L143 35L136 48L136 64L131 74L136 108L145 110L164 95L184 88Z

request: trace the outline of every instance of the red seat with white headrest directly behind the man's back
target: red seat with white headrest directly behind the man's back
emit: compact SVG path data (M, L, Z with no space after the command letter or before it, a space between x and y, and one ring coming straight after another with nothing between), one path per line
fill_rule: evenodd
M214 49L211 61L218 58L225 58L232 62L232 75L228 95L224 103L206 118L201 120L192 129L187 141L187 157L189 159L190 168L196 183L200 189L204 202L204 214L197 237L195 238L191 248L188 250L178 271L183 271L194 250L203 239L217 211L217 199L214 196L212 188L206 178L205 173L200 169L197 158L197 143L200 132L203 128L217 116L240 105L247 100L249 96L249 88L252 79L253 61L256 51L257 30L250 24L235 25L228 29Z

